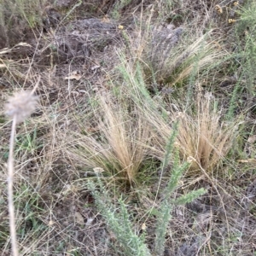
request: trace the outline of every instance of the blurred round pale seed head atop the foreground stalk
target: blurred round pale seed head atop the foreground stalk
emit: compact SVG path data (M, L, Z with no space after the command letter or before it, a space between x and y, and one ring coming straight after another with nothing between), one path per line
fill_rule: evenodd
M5 113L11 119L16 118L16 122L20 123L32 114L37 104L37 96L34 96L30 90L21 90L9 98L5 105Z

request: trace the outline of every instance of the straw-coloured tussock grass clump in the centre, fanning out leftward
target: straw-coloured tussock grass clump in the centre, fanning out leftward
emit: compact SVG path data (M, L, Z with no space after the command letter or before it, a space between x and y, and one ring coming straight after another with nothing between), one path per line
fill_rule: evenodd
M143 116L128 113L117 104L100 98L100 109L95 113L96 134L75 134L68 154L93 169L103 168L121 182L136 183L137 174L147 158L150 132Z

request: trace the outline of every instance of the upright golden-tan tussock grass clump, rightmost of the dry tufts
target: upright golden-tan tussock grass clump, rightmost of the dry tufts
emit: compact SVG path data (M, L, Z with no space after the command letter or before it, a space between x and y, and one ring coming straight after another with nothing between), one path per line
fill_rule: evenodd
M195 113L177 113L175 117L179 120L177 147L185 159L192 161L190 169L209 173L230 152L237 135L237 124L222 121L213 105L214 101L201 96Z

